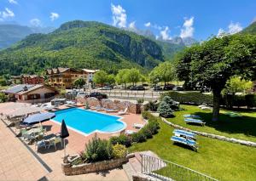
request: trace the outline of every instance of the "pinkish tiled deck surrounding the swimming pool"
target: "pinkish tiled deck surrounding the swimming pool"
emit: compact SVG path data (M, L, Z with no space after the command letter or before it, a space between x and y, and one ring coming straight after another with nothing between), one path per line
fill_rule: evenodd
M62 106L60 109L67 109ZM115 115L116 114L110 114ZM123 122L127 124L126 129L137 131L133 128L133 123L145 124L141 115L127 114L122 116ZM55 122L44 122L47 134L60 133L61 125ZM34 144L26 144L21 139L15 137L15 128L6 127L0 122L0 180L38 180L40 178L48 180L128 180L122 168L113 169L102 173L89 173L77 176L65 176L61 171L61 161L64 150L61 144L57 150L52 146L49 149L35 150ZM109 139L119 133L92 133L88 136L69 131L66 139L66 152L68 155L79 154L84 150L85 144L95 135L101 139Z

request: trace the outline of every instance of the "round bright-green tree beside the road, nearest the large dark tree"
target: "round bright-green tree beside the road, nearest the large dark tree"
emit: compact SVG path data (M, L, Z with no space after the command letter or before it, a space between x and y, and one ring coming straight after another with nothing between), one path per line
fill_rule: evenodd
M159 81L165 82L171 82L175 80L176 77L176 71L175 66L171 62L164 62L160 65L154 67L154 70L150 73L151 80L154 80L154 82L157 82L157 79Z

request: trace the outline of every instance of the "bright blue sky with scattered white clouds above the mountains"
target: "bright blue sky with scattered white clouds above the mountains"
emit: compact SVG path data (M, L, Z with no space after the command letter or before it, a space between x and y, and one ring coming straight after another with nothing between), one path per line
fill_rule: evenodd
M255 0L0 0L0 23L54 26L96 20L150 30L155 37L206 40L236 33L256 20Z

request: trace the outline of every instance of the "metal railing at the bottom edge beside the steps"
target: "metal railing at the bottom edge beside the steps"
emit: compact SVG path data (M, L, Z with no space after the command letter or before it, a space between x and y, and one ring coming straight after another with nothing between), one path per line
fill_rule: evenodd
M183 167L172 161L161 160L156 157L141 155L142 173L159 178L160 180L175 181L218 181L203 173Z

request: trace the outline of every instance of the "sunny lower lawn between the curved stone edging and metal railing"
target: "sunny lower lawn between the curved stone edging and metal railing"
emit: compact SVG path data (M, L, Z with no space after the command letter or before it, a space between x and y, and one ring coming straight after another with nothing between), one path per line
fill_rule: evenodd
M219 180L254 181L256 178L256 148L197 136L198 152L170 140L173 128L160 122L160 131L153 139L133 144L130 152L152 150L160 158L205 173Z

